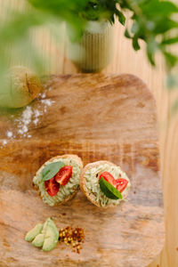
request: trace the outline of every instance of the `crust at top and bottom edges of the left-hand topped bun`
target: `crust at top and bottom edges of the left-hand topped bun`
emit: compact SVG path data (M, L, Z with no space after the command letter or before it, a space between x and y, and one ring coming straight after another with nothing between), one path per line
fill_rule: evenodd
M45 163L46 163L46 162L53 162L53 160L54 160L54 159L57 159L57 158L75 158L75 159L77 159L78 164L81 165L82 168L83 168L83 166L84 166L84 165L83 165L83 161L82 161L82 159L79 158L77 155L73 155L73 154L65 154L65 155L62 155L62 156L56 156L56 157L50 158L49 160L45 161L44 164L43 164L40 168L43 168L43 167L45 166ZM39 198L41 198L42 201L43 201L43 198L42 198L42 196L41 196L41 191L39 190L38 186L37 186L36 184L33 183L33 187L34 187L34 189L37 191L37 194L38 194ZM78 188L77 188L76 191L74 191L72 194L69 195L68 198L65 198L65 199L62 200L61 202L55 203L53 206L60 206L61 204L67 202L69 199L74 198L74 196L77 194L78 189L79 189L79 186L78 186ZM44 202L44 201L43 201L43 202ZM44 204L45 204L46 206L49 206L49 205L47 205L46 203L44 203Z

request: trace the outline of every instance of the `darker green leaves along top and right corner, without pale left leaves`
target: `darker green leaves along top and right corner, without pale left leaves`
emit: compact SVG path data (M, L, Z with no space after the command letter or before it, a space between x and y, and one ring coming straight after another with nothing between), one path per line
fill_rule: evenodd
M29 0L40 11L48 12L69 22L76 30L76 35L82 33L86 20L115 19L125 25L125 15L121 11L132 12L131 28L125 29L125 36L132 39L134 50L140 49L139 40L147 44L147 55L152 65L155 65L154 55L159 50L163 53L168 69L174 67L178 58L167 51L171 44L178 43L178 32L169 36L171 30L178 29L178 20L173 15L178 14L178 7L169 1L160 0ZM176 18L178 19L178 18ZM79 31L79 32L78 32Z

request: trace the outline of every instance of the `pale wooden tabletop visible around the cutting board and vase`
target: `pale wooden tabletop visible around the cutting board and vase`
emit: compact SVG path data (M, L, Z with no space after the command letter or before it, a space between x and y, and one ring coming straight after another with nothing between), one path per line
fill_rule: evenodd
M6 0L5 3L22 8L23 0ZM0 0L1 12L4 10L4 0ZM158 132L160 140L163 193L165 202L166 244L162 253L150 267L178 266L178 113L170 115L169 110L173 101L178 97L178 91L168 92L165 86L166 73L164 64L158 57L157 69L152 69L142 51L134 52L129 40L124 37L124 28L116 23L114 33L115 56L109 67L102 72L107 74L130 73L141 77L154 94L158 107ZM36 35L37 33L37 35ZM61 30L61 45L54 44L53 38L45 28L37 29L32 35L43 54L50 55L46 74L77 73L75 66L65 56L66 35ZM18 63L12 60L12 64ZM20 62L19 62L20 63ZM27 63L28 65L28 59ZM139 267L139 266L138 266Z

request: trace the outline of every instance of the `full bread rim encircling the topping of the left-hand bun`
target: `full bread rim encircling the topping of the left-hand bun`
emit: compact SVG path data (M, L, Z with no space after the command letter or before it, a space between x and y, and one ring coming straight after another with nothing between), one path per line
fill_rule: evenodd
M65 158L69 158L69 159L72 159L72 160L76 161L77 165L79 166L80 170L82 171L82 169L83 169L83 162L82 162L82 159L79 158L77 155L66 154L66 155L56 156L56 157L50 158L48 161L46 161L46 162L43 164L43 166L41 166L41 167L39 168L39 170L36 172L36 174L41 173L41 171L43 170L44 166L46 166L46 164L55 162L56 159L61 159L61 160L62 160L62 159L65 159ZM80 174L81 174L81 171L80 171ZM67 196L66 198L64 198L62 201L60 201L60 202L56 201L56 202L55 202L55 200L54 200L53 205L49 205L48 203L46 203L46 201L44 201L44 196L42 195L42 191L40 190L39 186L38 186L38 185L36 184L36 182L35 182L35 177L36 177L36 176L35 176L34 179L33 179L33 186L34 186L35 190L37 191L39 197L44 201L45 204L47 204L47 205L49 205L49 206L59 206L59 205L61 205L62 203L67 202L69 199L73 198L73 197L76 195L77 190L79 189L79 177L80 177L80 174L78 174L77 188L76 188L75 190L73 190L73 192L70 193L69 196ZM70 178L70 179L71 179L71 178ZM70 181L70 180L69 180L69 181ZM67 184L68 184L68 183L67 183ZM66 186L66 185L65 185L65 186ZM59 191L59 192L60 192L60 191ZM58 193L59 193L59 192L58 192ZM46 191L45 191L45 193L48 194ZM57 194L57 195L58 195L58 194ZM51 197L51 196L48 195L48 198L53 198L53 199L55 199L55 197L56 197L56 196Z

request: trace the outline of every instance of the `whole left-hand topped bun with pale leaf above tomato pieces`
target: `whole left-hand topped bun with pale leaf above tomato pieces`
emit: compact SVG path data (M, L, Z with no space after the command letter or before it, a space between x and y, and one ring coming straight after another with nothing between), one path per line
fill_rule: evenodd
M45 204L57 206L72 198L79 188L81 158L63 155L49 159L36 172L33 184Z

